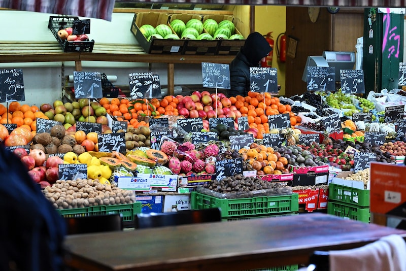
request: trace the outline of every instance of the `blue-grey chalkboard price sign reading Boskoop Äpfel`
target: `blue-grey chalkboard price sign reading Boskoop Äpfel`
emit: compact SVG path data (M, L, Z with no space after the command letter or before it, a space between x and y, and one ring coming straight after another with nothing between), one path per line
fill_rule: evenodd
M73 72L75 98L102 98L101 76L98 72Z

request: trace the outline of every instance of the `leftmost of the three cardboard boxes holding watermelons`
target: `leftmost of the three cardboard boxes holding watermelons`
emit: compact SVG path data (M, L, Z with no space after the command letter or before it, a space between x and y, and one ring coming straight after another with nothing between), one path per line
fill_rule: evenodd
M167 13L140 12L134 14L131 25L131 32L136 37L140 46L149 54L182 54L185 46L185 40L172 39L150 39L145 38L140 31L144 24L151 24L156 27L158 24L168 24L170 17ZM172 29L172 28L171 28ZM175 32L173 32L175 33Z

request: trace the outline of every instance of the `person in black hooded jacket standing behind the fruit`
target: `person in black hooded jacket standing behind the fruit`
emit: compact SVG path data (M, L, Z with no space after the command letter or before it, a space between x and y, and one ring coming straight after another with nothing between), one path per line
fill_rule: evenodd
M258 67L271 51L272 47L260 33L250 33L241 51L230 63L231 89L228 90L228 96L248 95L250 67Z

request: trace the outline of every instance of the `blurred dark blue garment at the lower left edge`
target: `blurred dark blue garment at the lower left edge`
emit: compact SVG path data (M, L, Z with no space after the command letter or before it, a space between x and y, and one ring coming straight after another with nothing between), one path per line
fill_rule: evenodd
M62 270L63 218L3 146L0 176L0 270Z

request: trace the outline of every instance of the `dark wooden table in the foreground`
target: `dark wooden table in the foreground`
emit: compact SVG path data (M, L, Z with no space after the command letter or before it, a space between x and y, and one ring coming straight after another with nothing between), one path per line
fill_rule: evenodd
M67 236L65 263L82 270L243 270L307 263L314 250L364 246L406 231L303 214Z

